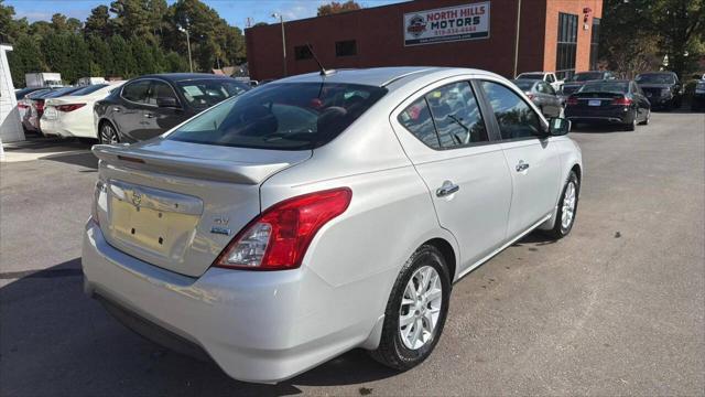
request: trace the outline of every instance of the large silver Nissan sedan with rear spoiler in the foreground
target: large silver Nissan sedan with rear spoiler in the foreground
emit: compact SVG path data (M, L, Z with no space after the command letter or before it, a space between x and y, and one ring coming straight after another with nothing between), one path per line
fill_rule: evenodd
M477 69L269 83L149 141L94 147L85 291L237 379L355 347L409 369L438 342L454 281L534 228L571 232L568 128Z

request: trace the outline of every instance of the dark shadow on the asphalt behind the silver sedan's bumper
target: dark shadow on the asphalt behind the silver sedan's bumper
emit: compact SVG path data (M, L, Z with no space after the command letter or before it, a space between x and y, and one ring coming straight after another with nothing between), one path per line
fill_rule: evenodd
M0 395L296 395L395 374L354 350L278 385L242 383L112 319L83 293L80 258L0 282Z

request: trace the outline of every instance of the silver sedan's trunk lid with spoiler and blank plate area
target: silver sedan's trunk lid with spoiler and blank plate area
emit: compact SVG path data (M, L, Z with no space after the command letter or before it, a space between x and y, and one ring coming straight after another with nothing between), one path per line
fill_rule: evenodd
M260 208L260 184L311 158L164 139L95 146L105 200L98 221L115 248L197 277Z

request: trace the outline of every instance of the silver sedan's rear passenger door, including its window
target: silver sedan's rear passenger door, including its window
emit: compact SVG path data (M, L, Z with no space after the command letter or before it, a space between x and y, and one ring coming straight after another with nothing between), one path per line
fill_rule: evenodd
M459 272L467 271L505 242L511 201L505 155L474 88L463 79L436 83L403 101L390 121L441 226L458 242Z

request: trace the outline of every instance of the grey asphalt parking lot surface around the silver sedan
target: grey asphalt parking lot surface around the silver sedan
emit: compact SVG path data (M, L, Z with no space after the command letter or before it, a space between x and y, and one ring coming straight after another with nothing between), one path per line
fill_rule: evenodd
M88 147L2 163L0 394L703 395L705 115L651 121L571 133L572 235L529 235L456 283L423 365L395 374L352 351L275 386L164 351L84 297Z

